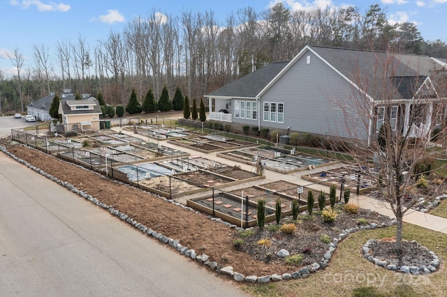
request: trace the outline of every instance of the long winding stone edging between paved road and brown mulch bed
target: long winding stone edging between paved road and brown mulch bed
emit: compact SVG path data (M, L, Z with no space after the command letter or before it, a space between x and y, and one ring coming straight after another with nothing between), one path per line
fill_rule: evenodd
M30 169L34 170L38 174L41 174L45 176L46 178L49 178L51 181L54 181L55 183L59 183L59 185L62 185L64 188L67 188L68 190L71 190L71 192L74 192L76 195L79 195L80 197L91 201L91 203L96 204L97 206L100 206L101 208L106 209L108 212L110 212L112 215L115 215L120 220L123 220L131 225L133 227L139 229L143 233L147 234L147 236L152 236L153 238L158 239L162 243L166 243L170 245L172 248L177 250L180 254L189 257L191 259L195 259L201 264L204 264L206 266L209 266L212 271L216 271L217 273L223 274L223 275L230 275L233 277L233 280L237 282L258 282L258 283L265 283L270 281L279 281L279 280L290 280L291 278L297 279L297 278L305 278L310 275L310 273L315 273L318 271L318 269L325 269L328 267L329 261L332 258L332 254L335 252L337 245L340 241L342 241L346 236L349 234L356 232L356 231L364 231L369 229L376 229L381 227L390 227L396 224L397 222L395 220L391 220L390 222L382 223L382 224L376 224L376 223L370 223L367 226L362 227L356 227L351 229L344 229L342 233L340 233L336 238L332 239L332 242L328 244L328 250L325 252L323 259L321 261L314 262L311 265L307 265L303 268L301 268L298 271L295 271L293 273L283 273L283 274L272 274L272 275L263 275L263 276L257 276L257 275L248 275L244 276L242 273L237 273L233 270L232 266L222 266L221 264L217 263L216 261L209 261L210 257L207 256L207 254L200 254L198 255L195 250L189 249L184 247L179 243L177 239L168 238L167 236L164 236L163 234L154 231L153 229L146 227L145 225L137 222L136 220L133 220L133 218L129 217L129 215L126 215L126 213L122 213L121 211L118 211L117 209L113 208L112 206L108 206L107 204L99 201L95 197L92 197L91 195L87 194L86 192L79 190L74 185L71 185L71 183L67 183L65 181L61 181L58 178L55 178L51 174L47 174L42 169L39 169L31 164L29 162L24 161L20 158L17 158L13 153L10 153L4 146L0 146L0 151L3 151L3 153L6 153L6 155L10 156L10 158L13 158L17 162L22 163L23 165L29 167ZM163 198L166 201L169 201L170 203L173 203L177 206L181 206L182 208L189 209L191 211L192 208L189 208L187 206L184 206L183 204L179 204L178 202L174 201L173 199L166 199ZM194 211L196 212L196 211ZM219 218L213 218L211 216L208 216L210 220L214 220L215 222L221 222L225 224L226 226L230 228L235 228L237 230L241 230L242 228L236 227L234 224L230 224L228 222L224 222L223 220ZM284 251L284 250L281 250ZM438 262L439 263L439 262ZM439 266L439 265L438 265Z

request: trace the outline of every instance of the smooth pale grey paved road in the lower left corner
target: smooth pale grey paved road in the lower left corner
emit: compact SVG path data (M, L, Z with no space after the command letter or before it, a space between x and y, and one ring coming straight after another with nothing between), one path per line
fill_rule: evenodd
M0 296L244 296L0 153Z

